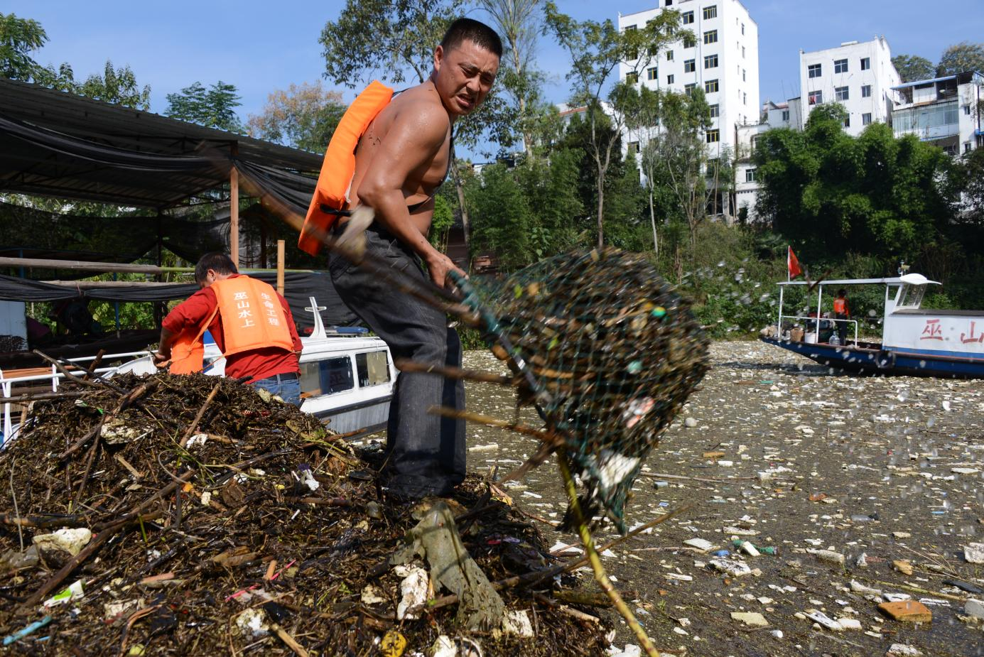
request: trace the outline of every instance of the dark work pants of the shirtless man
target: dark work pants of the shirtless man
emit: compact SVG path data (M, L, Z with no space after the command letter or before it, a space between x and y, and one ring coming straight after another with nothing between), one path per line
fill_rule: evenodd
M366 231L366 255L395 276L426 279L414 254L375 226ZM329 269L341 300L386 341L394 358L461 367L461 341L443 312L336 254L329 257ZM447 496L464 479L464 421L428 413L431 406L463 409L464 384L400 373L387 426L388 485L395 495Z

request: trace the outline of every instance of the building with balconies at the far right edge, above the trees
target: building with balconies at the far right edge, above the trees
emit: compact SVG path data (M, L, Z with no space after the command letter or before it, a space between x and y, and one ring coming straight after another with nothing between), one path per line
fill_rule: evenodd
M984 147L981 100L984 76L968 71L894 88L900 103L892 111L895 137L916 135L951 155Z

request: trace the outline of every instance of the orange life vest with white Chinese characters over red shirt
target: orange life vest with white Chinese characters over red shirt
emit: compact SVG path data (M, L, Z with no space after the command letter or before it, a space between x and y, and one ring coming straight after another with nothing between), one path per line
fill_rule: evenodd
M261 347L294 350L277 291L269 284L249 276L236 276L216 280L212 289L218 300L215 311L222 318L223 356ZM213 317L215 312L198 329L197 335L186 330L178 336L171 346L171 374L202 371L205 355L202 333L212 323Z

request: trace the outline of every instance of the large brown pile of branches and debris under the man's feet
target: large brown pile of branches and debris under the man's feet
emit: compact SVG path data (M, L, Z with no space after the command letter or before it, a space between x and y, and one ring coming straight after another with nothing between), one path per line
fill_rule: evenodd
M86 383L0 452L5 650L603 654L584 563L488 482L400 504L378 453L235 381Z

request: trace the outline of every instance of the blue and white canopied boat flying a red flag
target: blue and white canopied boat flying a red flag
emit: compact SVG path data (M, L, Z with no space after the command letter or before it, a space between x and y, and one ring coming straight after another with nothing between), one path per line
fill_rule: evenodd
M939 284L918 273L818 283L782 281L776 324L767 328L761 339L822 365L859 374L984 378L984 312L923 309L926 288ZM825 287L885 285L882 340L859 339L856 320L783 315L783 293L796 285L815 286L818 311L823 308ZM802 323L804 330L790 328L793 323ZM827 334L836 334L838 323L847 323L848 333L854 337L844 344L830 344Z

